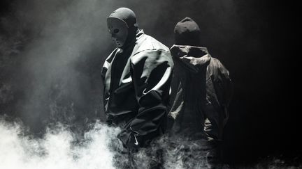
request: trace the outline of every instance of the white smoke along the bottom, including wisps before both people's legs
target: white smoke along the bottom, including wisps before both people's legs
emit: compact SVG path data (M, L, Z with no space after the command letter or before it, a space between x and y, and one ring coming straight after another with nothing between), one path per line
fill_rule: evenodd
M20 123L6 122L0 117L0 168L1 169L84 169L124 168L134 161L138 168L149 168L150 163L159 162L164 168L187 168L196 161L180 151L182 147L171 147L166 138L161 138L149 148L132 154L121 154L123 150L117 140L119 128L96 122L94 127L78 139L69 127L57 124L48 128L43 137L32 136ZM161 158L157 156L161 150ZM196 154L198 158L199 154ZM188 158L189 157L189 158ZM182 161L183 158L189 159ZM206 163L201 157L201 163ZM131 164L130 164L131 165Z

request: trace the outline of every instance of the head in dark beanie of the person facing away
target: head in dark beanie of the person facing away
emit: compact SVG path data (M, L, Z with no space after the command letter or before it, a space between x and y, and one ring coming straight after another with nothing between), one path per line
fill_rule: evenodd
M175 45L201 46L199 26L193 19L185 17L174 28Z

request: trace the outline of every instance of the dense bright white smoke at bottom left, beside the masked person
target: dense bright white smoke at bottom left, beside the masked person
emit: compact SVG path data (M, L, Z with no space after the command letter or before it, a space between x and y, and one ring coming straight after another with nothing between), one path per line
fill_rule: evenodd
M114 168L109 144L118 131L98 122L75 144L74 134L62 125L48 129L43 138L32 138L24 135L22 125L1 121L0 168Z

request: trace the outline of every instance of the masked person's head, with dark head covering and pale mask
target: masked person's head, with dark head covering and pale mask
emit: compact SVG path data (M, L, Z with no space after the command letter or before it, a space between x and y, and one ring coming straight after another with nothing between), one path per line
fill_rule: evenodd
M111 38L119 48L126 46L136 37L136 15L129 8L118 8L107 17Z

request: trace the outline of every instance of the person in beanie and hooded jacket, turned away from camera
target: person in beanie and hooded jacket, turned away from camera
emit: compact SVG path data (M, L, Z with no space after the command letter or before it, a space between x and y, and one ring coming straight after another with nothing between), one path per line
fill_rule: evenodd
M185 146L185 152L194 154L197 163L185 161L204 168L211 166L208 159L219 157L217 143L222 140L222 129L229 116L232 83L222 63L211 57L206 47L201 47L196 22L186 17L176 24L174 32L169 133L172 143ZM203 156L208 159L199 159Z

